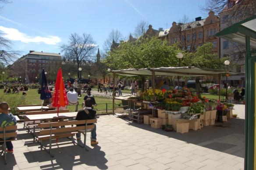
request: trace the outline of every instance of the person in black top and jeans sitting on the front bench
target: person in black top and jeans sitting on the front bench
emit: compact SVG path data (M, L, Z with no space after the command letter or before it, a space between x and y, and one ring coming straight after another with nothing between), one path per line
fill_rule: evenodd
M75 120L89 120L94 119L96 115L96 110L92 109L93 100L92 97L88 97L85 101L85 108L78 111ZM91 125L91 124L88 124ZM77 126L85 126L85 125L77 125ZM94 128L91 132L91 145L97 145L99 142L96 139L96 124L94 124ZM81 140L81 133L76 134L76 139Z

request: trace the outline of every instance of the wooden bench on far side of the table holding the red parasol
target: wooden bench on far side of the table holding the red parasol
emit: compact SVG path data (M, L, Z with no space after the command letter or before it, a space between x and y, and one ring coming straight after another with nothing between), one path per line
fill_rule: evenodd
M60 110L59 113L68 113L69 109L65 109L65 110ZM57 110L53 110L53 111L28 111L25 112L25 115L32 115L32 114L49 114L49 113L56 113L57 114ZM23 116L25 116L23 115ZM28 128L28 133L29 133L29 128L37 126L39 123L41 123L41 121L29 121L26 119L26 117L24 118L24 127Z

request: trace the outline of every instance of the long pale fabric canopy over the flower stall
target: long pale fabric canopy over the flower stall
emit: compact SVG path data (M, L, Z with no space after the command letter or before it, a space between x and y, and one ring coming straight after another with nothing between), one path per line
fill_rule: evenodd
M121 69L113 70L112 73L123 76L152 76L152 71L155 71L155 76L205 76L227 73L226 70L219 69L201 69L195 66L187 67L159 67L152 69ZM238 74L228 71L230 74Z

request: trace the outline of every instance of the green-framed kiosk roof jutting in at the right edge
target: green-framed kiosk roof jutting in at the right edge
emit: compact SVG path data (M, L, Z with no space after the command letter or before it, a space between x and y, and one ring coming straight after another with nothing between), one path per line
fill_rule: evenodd
M216 36L245 45L245 36L250 37L250 46L256 48L256 15L231 25Z

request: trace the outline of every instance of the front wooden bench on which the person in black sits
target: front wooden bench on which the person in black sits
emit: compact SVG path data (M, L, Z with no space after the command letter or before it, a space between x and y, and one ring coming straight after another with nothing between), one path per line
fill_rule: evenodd
M75 142L73 136L76 133L82 133L84 135L84 143L83 147L85 150L88 151L86 148L86 132L91 132L94 128L94 125L88 125L92 123L96 123L96 119L92 120L80 120L80 121L58 121L58 122L48 122L48 123L39 123L38 126L40 128L39 132L36 132L36 139L40 143L41 150L44 148L46 152L50 154L50 156L53 157L51 147L52 147L52 140L57 138L64 138L64 137L71 137L71 141L75 144L78 144ZM70 125L83 125L84 126L76 126L76 127L70 127ZM68 126L69 127L65 127ZM48 128L48 129L46 129ZM49 140L49 151L47 151L46 146L43 145L43 140ZM56 141L57 142L57 141ZM78 144L79 145L79 144ZM80 146L80 145L79 145Z

